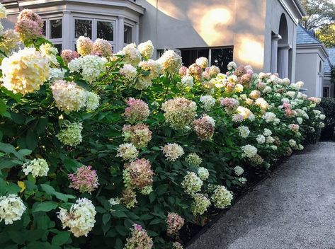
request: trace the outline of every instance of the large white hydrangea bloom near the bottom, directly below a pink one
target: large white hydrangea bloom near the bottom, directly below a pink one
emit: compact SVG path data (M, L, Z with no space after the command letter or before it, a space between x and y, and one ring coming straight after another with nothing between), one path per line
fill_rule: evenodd
M86 236L96 223L96 209L89 199L81 198L72 204L71 209L60 208L58 218L62 222L63 228L69 228L75 237Z

